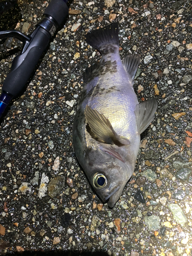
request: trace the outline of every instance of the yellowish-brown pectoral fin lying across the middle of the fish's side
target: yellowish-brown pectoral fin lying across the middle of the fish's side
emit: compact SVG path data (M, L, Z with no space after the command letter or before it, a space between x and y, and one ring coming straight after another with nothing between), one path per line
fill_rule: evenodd
M117 135L108 118L106 118L103 114L99 114L98 111L91 109L88 105L86 106L85 116L92 132L98 137L99 140L112 145L130 144L129 139Z

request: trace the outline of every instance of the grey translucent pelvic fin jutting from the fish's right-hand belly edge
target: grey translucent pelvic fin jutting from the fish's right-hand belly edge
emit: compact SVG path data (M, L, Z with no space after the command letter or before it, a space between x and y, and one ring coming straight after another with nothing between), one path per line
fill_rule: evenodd
M137 129L139 134L144 132L146 127L150 125L150 123L154 119L154 114L156 112L156 109L157 109L156 99L150 99L136 105L135 115L136 115Z

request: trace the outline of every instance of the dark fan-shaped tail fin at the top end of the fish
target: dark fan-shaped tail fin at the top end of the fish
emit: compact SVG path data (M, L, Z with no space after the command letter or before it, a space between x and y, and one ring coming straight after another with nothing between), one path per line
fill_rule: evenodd
M86 41L92 47L103 52L103 47L107 45L116 45L119 47L118 24L112 23L104 28L93 30L86 35Z

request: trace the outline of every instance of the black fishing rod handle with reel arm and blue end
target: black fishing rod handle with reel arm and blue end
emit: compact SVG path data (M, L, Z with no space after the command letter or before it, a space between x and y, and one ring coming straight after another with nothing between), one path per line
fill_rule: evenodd
M0 39L15 37L24 43L22 52L13 59L11 70L3 83L0 118L10 101L24 91L52 36L67 18L67 3L68 0L52 0L29 36L17 30L0 31Z

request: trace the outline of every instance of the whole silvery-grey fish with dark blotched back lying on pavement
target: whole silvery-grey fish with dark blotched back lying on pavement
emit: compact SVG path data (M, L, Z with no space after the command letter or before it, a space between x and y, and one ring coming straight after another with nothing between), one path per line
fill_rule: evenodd
M83 74L73 146L94 191L113 208L134 173L140 134L153 121L157 101L138 102L133 84L140 55L121 61L117 23L87 33L86 41L101 59Z

